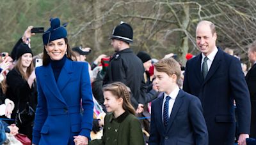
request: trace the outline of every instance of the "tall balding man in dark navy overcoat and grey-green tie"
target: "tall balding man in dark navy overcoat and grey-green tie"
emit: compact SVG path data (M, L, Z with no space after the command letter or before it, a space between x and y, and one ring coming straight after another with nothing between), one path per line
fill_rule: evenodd
M209 144L234 144L236 100L239 145L250 133L250 97L241 64L216 47L217 34L212 22L202 21L196 27L196 45L200 55L186 64L184 91L202 102L209 132Z

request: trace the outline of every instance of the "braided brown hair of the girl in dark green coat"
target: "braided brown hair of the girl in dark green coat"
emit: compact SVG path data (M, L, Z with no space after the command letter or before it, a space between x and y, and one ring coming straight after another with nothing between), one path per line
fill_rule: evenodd
M124 100L123 102L123 109L125 111L129 111L131 114L135 114L135 109L131 105L131 96L127 89L127 86L124 85L124 83L121 82L115 82L110 83L108 85L103 86L102 88L103 92L109 91L113 95L116 96L116 99L122 98Z

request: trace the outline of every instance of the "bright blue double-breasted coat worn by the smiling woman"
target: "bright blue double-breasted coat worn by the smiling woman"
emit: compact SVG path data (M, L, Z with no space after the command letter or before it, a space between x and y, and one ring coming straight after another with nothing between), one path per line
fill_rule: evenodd
M58 81L51 64L36 67L35 72L38 106L33 144L75 144L77 135L90 139L93 100L88 63L66 59Z

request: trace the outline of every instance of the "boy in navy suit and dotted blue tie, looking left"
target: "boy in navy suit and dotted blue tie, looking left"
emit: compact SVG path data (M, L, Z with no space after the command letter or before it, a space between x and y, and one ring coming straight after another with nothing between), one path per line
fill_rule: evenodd
M172 59L156 62L157 89L164 92L152 102L150 145L208 144L207 127L200 100L180 90L180 65Z

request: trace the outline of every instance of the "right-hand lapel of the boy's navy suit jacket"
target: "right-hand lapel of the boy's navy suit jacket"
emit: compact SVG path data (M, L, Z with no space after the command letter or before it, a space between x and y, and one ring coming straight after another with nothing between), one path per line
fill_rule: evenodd
M179 90L179 93L178 93L178 95L175 99L175 102L174 102L173 107L172 107L172 113L171 113L171 116L169 118L168 126L167 126L167 129L166 129L167 132L172 127L173 120L174 120L175 116L177 115L177 113L179 112L180 106L182 105L182 102L183 102L182 96L184 95L183 93L184 92L182 90Z

